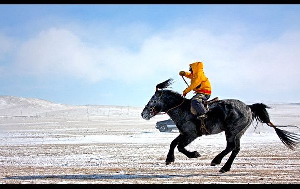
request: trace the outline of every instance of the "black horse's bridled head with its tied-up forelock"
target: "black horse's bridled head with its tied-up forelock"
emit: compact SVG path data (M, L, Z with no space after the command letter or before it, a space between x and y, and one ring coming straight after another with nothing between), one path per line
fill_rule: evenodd
M168 95L164 95L168 90L163 90L170 87L173 79L168 79L160 84L157 84L155 94L151 97L146 107L143 109L142 118L149 120L160 112L166 111L166 102L169 100Z

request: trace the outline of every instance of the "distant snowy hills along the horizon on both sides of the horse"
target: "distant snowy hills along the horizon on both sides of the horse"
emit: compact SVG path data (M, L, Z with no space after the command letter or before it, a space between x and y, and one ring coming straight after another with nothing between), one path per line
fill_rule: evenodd
M255 102L246 102L246 104L253 104ZM285 110L286 107L298 106L300 103L274 103L263 102L271 107L276 107L279 110ZM130 110L132 116L139 116L143 107L129 106L110 106L110 105L67 105L60 103L53 103L44 99L38 98L23 98L16 96L0 96L0 117L7 116L86 116L91 115L120 115L127 113Z

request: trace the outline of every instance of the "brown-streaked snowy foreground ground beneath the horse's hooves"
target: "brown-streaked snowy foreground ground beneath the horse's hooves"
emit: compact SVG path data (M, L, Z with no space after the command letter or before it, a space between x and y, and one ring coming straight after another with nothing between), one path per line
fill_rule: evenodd
M189 148L199 148L194 144ZM4 184L299 184L300 154L281 143L243 144L231 170L219 173L210 162L223 148L202 147L188 159L175 151L165 166L168 145L51 144L1 146Z

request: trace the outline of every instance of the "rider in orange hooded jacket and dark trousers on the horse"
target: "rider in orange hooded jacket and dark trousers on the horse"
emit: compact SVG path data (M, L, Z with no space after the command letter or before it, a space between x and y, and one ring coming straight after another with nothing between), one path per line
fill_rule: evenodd
M183 96L193 90L195 95L191 99L191 112L196 111L198 119L207 118L207 115L205 115L207 110L203 103L210 98L211 86L208 78L204 74L203 63L194 62L189 64L189 71L190 73L185 71L179 72L179 75L191 79L190 86L183 91Z

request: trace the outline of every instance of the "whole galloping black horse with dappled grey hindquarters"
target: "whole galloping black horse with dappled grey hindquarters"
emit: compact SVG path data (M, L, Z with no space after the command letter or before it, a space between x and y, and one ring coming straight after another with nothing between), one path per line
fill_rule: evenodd
M170 144L170 149L165 160L166 165L175 162L174 149L177 145L178 151L188 158L197 158L201 156L197 151L191 152L186 150L185 147L202 135L218 134L224 131L227 140L226 148L215 156L210 166L219 165L222 159L232 151L227 162L219 170L222 173L228 172L236 155L240 151L240 138L250 124L254 124L254 120L256 120L255 129L258 122L273 127L282 143L289 149L295 150L295 147L299 144L299 134L277 128L297 126L275 126L270 121L266 110L270 107L263 103L247 105L237 99L214 101L209 104L209 111L206 113L208 117L198 120L197 116L192 114L190 110L191 100L178 92L167 89L172 83L173 79L170 78L157 84L155 94L151 97L147 105L145 105L141 113L142 118L145 120L149 120L157 114L167 113L178 127L180 134Z

